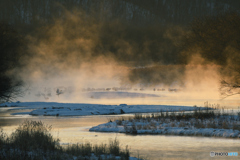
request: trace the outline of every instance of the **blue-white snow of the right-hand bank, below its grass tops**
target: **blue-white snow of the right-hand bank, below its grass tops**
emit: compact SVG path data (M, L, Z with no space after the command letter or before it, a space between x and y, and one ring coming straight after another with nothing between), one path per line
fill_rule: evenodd
M205 120L193 118L189 121L169 118L116 120L92 127L89 131L240 138L239 117L231 118L230 116Z

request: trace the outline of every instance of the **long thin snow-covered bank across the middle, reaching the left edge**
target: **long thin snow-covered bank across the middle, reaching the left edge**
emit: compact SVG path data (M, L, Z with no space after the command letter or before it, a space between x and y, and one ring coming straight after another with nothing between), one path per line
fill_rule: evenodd
M13 109L35 109L30 115L44 116L84 116L127 113L153 113L160 111L193 111L195 107L170 105L100 105L80 103L21 102L4 103L1 106L14 106ZM205 108L201 108L205 109Z

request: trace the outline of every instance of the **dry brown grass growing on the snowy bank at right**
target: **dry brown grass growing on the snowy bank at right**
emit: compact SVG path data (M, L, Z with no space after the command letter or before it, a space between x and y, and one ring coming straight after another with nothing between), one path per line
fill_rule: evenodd
M120 122L121 121L121 122ZM216 128L240 130L240 114L233 116L220 110L200 110L193 113L159 112L152 114L137 113L134 117L118 119L117 125L122 125L127 133L136 134L137 130L156 130L162 127ZM132 124L132 125L129 125ZM129 125L129 126L127 126Z

